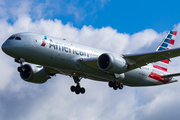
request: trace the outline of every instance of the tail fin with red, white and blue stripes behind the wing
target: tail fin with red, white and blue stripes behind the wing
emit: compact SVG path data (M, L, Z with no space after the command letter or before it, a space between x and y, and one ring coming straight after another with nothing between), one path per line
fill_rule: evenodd
M176 34L177 34L177 31L170 31L166 35L166 37L164 38L162 43L158 46L156 51L172 49L174 46ZM153 67L156 69L159 69L161 71L167 72L169 61L170 60L165 59L165 60L161 60L159 62L155 62L155 63L153 63Z

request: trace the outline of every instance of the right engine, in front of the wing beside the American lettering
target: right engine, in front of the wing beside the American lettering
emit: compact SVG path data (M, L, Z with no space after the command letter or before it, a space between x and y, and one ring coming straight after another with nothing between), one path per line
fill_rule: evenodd
M126 61L121 56L111 53L100 55L97 64L99 69L117 74L125 72L128 67Z

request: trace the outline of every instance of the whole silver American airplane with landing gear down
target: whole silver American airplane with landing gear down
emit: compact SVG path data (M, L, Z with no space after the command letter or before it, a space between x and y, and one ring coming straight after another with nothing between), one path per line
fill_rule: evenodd
M107 82L114 90L123 86L164 85L178 80L180 73L167 72L170 58L180 56L180 48L172 49L177 31L169 31L157 50L138 54L116 54L81 45L66 39L38 33L11 35L1 49L20 66L20 77L31 83L45 83L56 74L73 78L70 90L84 94L82 78ZM24 64L28 62L31 64Z

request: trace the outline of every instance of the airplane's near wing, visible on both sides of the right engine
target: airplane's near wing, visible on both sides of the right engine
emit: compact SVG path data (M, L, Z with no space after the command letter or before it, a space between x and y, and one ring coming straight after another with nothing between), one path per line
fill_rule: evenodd
M142 54L127 54L122 56L129 64L129 69L127 69L126 71L128 72L136 68L141 68L142 66L147 65L149 63L153 63L165 59L170 61L170 58L180 56L180 48L162 50L162 51L156 51L150 53L142 53ZM99 69L97 65L97 60L98 57L79 59L79 61L83 62L89 67Z

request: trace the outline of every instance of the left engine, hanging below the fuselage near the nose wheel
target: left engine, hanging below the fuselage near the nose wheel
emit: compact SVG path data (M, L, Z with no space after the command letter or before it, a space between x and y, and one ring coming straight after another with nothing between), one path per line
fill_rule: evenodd
M29 64L23 66L20 76L23 80L32 83L45 83L50 78L44 67Z

